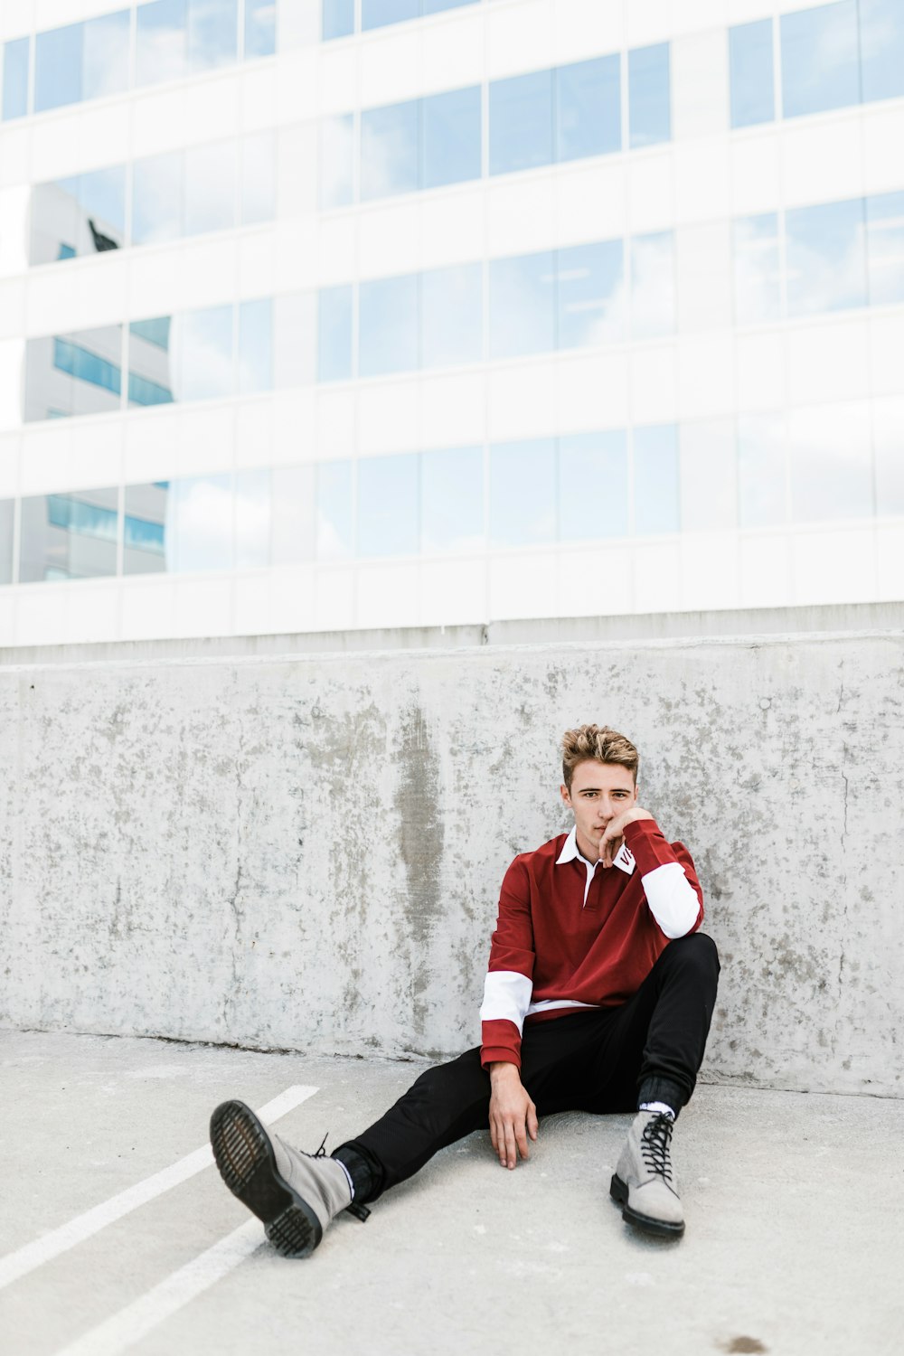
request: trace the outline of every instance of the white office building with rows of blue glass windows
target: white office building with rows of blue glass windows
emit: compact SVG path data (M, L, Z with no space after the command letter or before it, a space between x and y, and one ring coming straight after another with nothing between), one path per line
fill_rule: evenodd
M904 597L904 5L0 5L0 644Z

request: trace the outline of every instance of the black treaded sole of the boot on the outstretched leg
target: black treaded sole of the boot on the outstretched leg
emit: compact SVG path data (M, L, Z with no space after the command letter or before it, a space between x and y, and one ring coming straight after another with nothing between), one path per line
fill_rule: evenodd
M210 1117L210 1144L220 1176L243 1205L263 1222L283 1257L309 1257L324 1235L310 1205L276 1169L267 1131L249 1106L221 1102Z

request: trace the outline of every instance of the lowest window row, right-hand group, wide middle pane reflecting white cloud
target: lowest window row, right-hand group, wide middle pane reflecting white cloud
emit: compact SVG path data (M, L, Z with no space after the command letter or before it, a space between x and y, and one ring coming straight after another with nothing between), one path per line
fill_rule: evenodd
M792 517L798 522L873 514L873 450L866 401L787 415Z

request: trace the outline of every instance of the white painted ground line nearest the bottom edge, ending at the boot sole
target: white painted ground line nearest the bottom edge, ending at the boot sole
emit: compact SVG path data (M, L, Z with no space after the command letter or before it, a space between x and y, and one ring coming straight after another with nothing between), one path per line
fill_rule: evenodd
M202 1291L215 1285L264 1242L260 1220L251 1219L221 1238L206 1253L186 1262L172 1276L167 1276L141 1299L126 1304L118 1314L112 1314L103 1323L83 1333L75 1342L61 1348L56 1356L119 1356L140 1342L152 1328L163 1323L164 1318L169 1318Z

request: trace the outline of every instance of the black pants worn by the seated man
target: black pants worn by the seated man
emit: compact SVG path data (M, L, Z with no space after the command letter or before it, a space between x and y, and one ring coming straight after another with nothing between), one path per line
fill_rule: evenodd
M690 1100L716 1005L718 955L705 933L671 941L633 998L618 1008L575 1009L527 1024L522 1082L539 1117L560 1111L625 1112L663 1101L678 1113ZM489 1074L480 1047L427 1069L363 1135L335 1151L366 1163L375 1200L432 1155L489 1124Z

